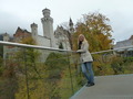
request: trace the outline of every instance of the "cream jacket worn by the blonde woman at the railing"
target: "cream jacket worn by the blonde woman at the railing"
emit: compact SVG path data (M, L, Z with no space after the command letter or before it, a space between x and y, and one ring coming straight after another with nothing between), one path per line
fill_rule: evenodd
M76 52L81 54L82 63L93 62L93 58L89 52L89 43L88 42L82 42L81 50L78 50Z

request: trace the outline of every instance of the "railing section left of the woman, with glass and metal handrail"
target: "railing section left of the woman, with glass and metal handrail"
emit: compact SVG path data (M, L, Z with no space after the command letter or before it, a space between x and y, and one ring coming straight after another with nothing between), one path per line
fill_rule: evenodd
M0 99L62 99L80 88L73 85L73 51L2 41L0 46Z

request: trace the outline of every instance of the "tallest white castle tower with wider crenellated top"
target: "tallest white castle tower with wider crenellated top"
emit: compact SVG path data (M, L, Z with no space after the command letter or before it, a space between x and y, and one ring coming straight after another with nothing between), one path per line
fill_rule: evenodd
M55 47L55 38L53 32L53 19L50 16L50 10L42 10L43 18L41 19L42 28L43 28L43 36L50 38L50 46Z

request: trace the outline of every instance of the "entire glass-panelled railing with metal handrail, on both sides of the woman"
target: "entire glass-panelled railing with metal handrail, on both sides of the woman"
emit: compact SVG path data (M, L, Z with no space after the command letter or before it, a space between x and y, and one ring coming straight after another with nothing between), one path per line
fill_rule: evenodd
M132 74L131 48L91 53L95 76ZM0 41L0 99L69 99L86 82L80 64L75 51Z

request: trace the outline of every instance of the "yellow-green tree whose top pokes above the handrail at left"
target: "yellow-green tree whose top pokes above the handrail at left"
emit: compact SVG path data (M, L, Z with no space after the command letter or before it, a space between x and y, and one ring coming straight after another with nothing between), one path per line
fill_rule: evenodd
M35 41L31 36L23 38L21 43L29 44L29 45L35 45ZM33 74L39 75L37 70L37 62L39 59L40 52L38 50L21 48L20 52L18 52L18 56L20 57L20 59L24 61L24 64L28 66L29 73L30 72L32 73L32 77L33 77Z

